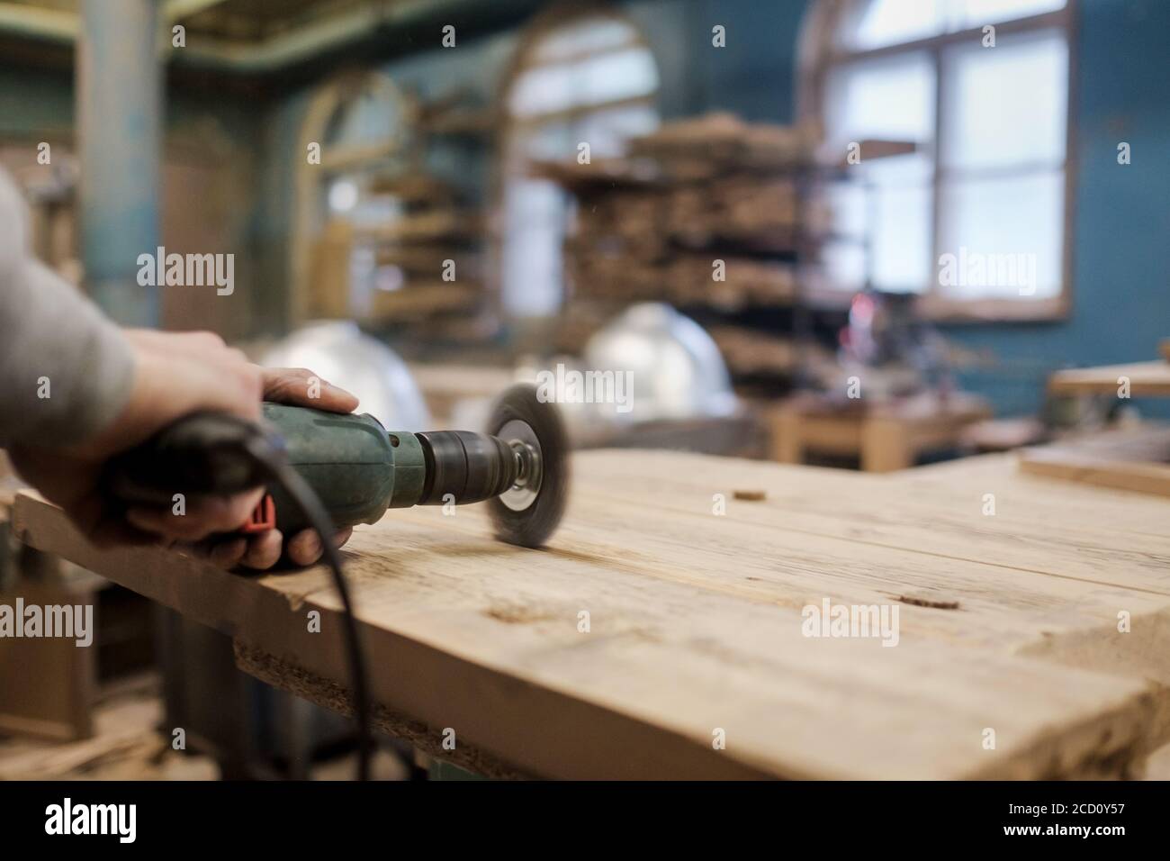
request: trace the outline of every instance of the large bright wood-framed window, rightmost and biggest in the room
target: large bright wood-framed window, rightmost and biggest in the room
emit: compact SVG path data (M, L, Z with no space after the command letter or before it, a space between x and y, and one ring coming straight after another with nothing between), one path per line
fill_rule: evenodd
M1069 0L1072 2L1074 0ZM1066 0L818 0L801 114L854 165L832 191L840 283L920 293L937 317L1044 319L1068 301Z

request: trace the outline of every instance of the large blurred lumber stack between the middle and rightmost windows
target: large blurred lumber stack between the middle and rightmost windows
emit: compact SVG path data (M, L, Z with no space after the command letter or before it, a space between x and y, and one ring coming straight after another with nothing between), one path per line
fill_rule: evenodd
M798 301L798 264L825 232L804 193L815 138L810 128L710 114L632 139L626 157L535 164L578 201L565 244L565 316L668 302L723 330L736 351L732 373L742 365L790 378L791 334L742 320ZM737 327L742 337L728 337Z

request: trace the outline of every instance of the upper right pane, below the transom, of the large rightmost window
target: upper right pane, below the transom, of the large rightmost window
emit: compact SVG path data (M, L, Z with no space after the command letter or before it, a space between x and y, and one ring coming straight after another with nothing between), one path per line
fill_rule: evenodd
M943 55L944 168L1065 160L1068 46L1058 32Z

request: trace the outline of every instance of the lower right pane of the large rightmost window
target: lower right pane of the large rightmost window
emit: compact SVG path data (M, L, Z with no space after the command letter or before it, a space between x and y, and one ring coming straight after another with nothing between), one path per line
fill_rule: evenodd
M1061 170L944 183L940 292L957 299L1058 295L1064 204Z

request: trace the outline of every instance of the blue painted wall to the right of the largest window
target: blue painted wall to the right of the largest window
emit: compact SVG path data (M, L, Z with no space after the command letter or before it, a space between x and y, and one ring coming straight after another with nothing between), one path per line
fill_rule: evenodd
M1170 337L1170 2L1079 6L1072 315L949 332L998 355L1002 367L966 383L1004 412L1034 409L1053 369L1150 360ZM1129 165L1117 164L1122 141ZM1170 416L1165 402L1135 403Z

